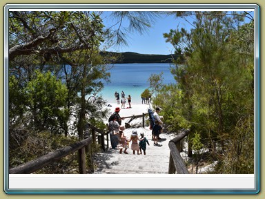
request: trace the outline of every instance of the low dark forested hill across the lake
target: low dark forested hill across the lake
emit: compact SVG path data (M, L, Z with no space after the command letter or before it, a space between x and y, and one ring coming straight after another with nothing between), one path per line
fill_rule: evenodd
M119 55L121 58L116 61L116 64L127 63L172 63L173 56L175 55L153 55L153 54L139 54L139 53L113 53L113 52L101 52L101 55Z

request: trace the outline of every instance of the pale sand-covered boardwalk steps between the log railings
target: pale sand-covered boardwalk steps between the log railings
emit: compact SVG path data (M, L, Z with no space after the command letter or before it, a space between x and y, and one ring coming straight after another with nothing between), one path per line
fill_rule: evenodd
M130 133L135 129L126 129L124 135L128 138ZM95 169L97 174L157 174L168 173L169 148L168 142L174 138L174 135L162 133L159 140L159 146L154 146L151 140L151 131L148 127L139 127L136 129L139 133L144 132L150 146L146 146L146 155L133 155L133 151L128 149L129 154L119 153L119 149L108 149L104 153L95 154L95 163L98 168ZM109 143L110 146L110 143Z

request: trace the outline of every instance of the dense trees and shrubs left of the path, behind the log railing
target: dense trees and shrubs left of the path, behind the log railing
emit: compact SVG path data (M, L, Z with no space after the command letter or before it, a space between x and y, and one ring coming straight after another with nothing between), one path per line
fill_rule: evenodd
M148 12L117 13L118 18L131 17L130 30L141 32L150 26L150 21L143 18L149 16ZM104 39L115 36L108 31L112 33L106 37L108 34L96 12L10 11L8 15L12 167L41 155L34 147L39 144L39 133L50 134L51 142L40 143L41 149L47 149L43 153L47 153L57 147L55 135L68 136L73 130L83 139L86 122L105 128L102 120L107 113L102 110L106 102L97 96L92 103L86 96L101 91L104 87L101 80L108 82L108 70L112 68L106 64L113 63L117 57L99 55ZM119 30L117 32L119 34ZM121 44L119 41L117 43ZM69 122L73 129L69 128ZM75 155L63 158L63 164L55 163L38 172L57 173L55 168L62 165L59 169L63 172L70 164L77 167L77 161L72 158L76 158Z

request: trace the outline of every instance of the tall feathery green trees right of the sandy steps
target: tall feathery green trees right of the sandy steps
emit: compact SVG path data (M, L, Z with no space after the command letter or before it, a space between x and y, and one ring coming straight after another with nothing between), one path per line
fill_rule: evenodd
M235 138L238 138L236 132L238 125L243 124L244 115L248 115L248 122L245 120L243 126L249 129L244 135L248 138L253 135L253 23L242 26L244 15L233 13L230 17L227 12L183 12L178 15L195 17L190 31L182 28L164 34L179 55L172 68L182 93L180 101L183 106L176 107L178 123L180 127L190 126L194 132L200 133L203 144L214 151L219 144L222 153L229 154L230 146L235 146L235 151L239 152L233 153L233 158L237 157L233 171L246 173L246 169L239 169L239 162L242 156L253 152L250 149L253 145L246 146L242 139L235 142ZM239 147L244 145L250 151ZM222 161L223 156L219 157L221 164L228 166ZM253 165L253 158L248 163ZM233 173L228 167L222 167L221 172Z

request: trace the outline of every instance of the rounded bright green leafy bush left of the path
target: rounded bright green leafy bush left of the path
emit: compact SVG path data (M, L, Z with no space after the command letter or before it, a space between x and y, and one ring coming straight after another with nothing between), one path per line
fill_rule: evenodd
M38 131L44 129L52 133L62 133L63 123L67 122L67 88L57 81L50 72L43 74L35 71L35 78L24 88L26 106L32 114L32 127Z

